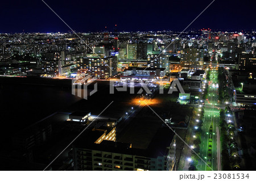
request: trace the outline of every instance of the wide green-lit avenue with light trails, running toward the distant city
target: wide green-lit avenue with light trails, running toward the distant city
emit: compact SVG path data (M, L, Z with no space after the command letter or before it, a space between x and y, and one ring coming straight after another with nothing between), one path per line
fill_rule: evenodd
M221 145L219 134L220 110L218 106L218 83L217 70L210 70L210 80L208 82L209 91L208 99L205 101L204 124L201 134L200 157L197 169L204 170L221 170Z

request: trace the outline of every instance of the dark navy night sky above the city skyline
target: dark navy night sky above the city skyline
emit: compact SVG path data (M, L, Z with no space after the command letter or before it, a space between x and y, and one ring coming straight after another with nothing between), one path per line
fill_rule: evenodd
M60 1L45 0L63 20L80 32L183 30L209 5L209 0ZM256 1L216 0L189 30L252 30ZM68 32L69 28L41 0L4 1L0 32Z

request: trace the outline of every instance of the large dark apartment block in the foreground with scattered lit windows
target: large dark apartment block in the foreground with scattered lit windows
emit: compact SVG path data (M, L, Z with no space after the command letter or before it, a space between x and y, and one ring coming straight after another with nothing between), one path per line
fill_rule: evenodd
M76 141L73 145L75 170L176 170L176 134L170 129L159 129L144 149L114 141L112 132L114 134L115 129L93 129ZM109 140L110 136L113 140Z

